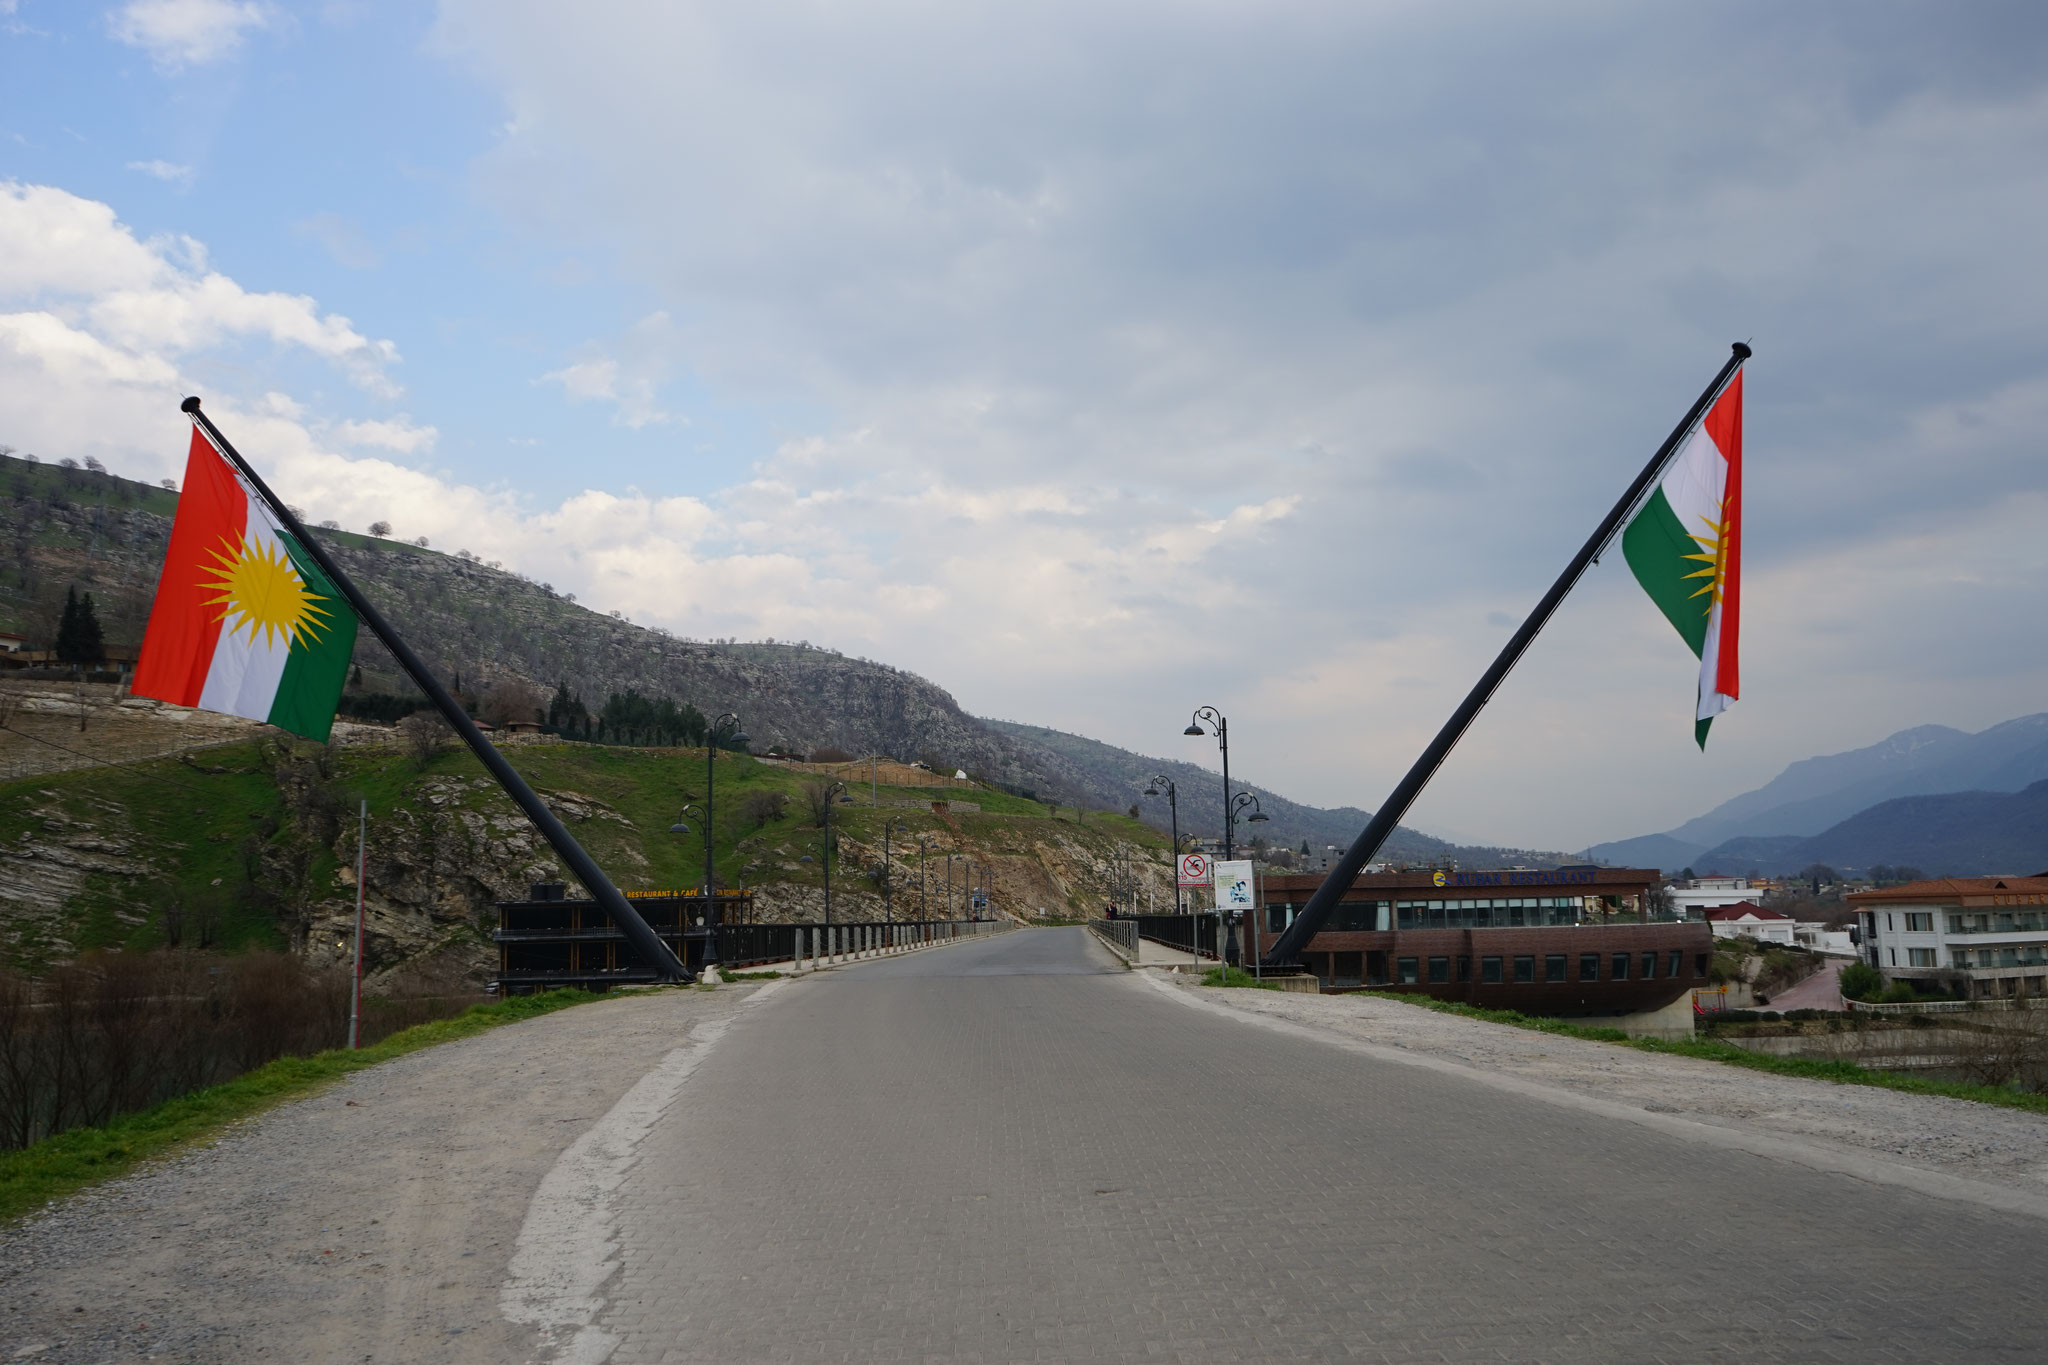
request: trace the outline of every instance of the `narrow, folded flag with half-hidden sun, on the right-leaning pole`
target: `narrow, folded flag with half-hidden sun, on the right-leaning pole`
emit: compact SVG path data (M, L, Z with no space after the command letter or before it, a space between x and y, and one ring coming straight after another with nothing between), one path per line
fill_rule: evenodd
M1743 372L1694 428L1663 483L1622 532L1622 555L1642 591L1700 655L1694 739L1737 696L1743 612Z

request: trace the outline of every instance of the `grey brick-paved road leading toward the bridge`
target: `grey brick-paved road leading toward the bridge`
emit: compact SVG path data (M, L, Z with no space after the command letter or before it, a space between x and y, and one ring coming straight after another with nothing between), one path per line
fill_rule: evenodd
M2042 1220L1190 1009L1079 929L778 988L637 1156L621 1363L2048 1351Z

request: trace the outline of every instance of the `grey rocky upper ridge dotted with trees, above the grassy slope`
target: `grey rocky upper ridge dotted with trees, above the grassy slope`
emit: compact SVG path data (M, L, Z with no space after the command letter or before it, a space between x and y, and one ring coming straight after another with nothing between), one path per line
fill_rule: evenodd
M141 639L164 559L176 495L84 469L0 458L0 630L47 647L68 587L94 593L111 647ZM1182 786L1182 833L1223 835L1223 784L1194 763L1161 763L1079 735L969 716L932 681L829 649L707 643L635 626L578 606L547 583L461 555L322 532L346 571L444 679L471 692L518 679L553 692L567 684L590 706L635 688L690 702L707 716L739 712L754 749L885 753L963 767L1014 794L1096 810L1141 804L1165 829L1165 802L1141 796L1163 772ZM356 661L365 686L401 690L397 665L362 632ZM1194 745L1196 741L1188 741ZM1255 788L1272 821L1255 827L1276 847L1321 857L1346 845L1368 812L1319 810ZM1251 833L1247 829L1245 833ZM1546 864L1526 849L1460 849L1399 831L1389 857L1456 857L1466 866ZM1311 864L1315 866L1315 864Z

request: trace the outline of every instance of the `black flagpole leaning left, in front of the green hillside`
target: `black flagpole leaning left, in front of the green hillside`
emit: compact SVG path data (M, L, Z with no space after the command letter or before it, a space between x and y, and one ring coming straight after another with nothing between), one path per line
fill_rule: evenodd
M184 399L180 407L190 413L193 422L205 428L213 446L225 454L242 477L250 481L250 487L256 489L266 503L270 503L270 512L285 524L285 530L289 530L299 544L305 546L305 553L313 557L319 571L328 575L344 598L348 598L348 606L356 610L362 624L369 626L379 641L383 641L385 649L391 651L391 657L397 659L399 667L412 675L414 686L418 686L420 692L424 692L434 704L434 710L438 710L440 716L455 726L455 733L461 735L463 743L469 745L469 749L483 761L483 767L498 778L498 786L506 790L506 796L518 802L518 808L526 812L526 819L541 831L541 837L547 839L549 847L555 849L561 862L569 864L569 872L575 880L584 884L584 890L588 890L600 907L604 907L604 913L610 915L612 923L618 925L618 931L627 935L627 941L633 943L633 948L639 950L639 954L653 966L655 974L662 980L690 980L690 968L686 968L682 960L670 952L668 943L664 943L659 935L647 927L647 921L639 917L633 902L618 894L618 888L612 886L608 876L604 876L604 870L598 868L590 853L584 851L584 845L575 841L563 823L555 819L555 812L547 808L547 802L543 802L535 790L526 786L526 780L512 769L506 755L498 753L496 745L483 739L483 731L479 731L477 722L469 718L469 712L455 704L449 690L434 679L428 667L420 663L420 657L412 653L412 647L399 639L397 630L393 630L377 608L373 608L356 589L356 585L348 581L342 567L328 559L328 553L317 540L313 540L313 536L307 534L305 526L299 524L299 518L293 516L291 508L287 508L279 495L270 491L270 485L266 485L256 471L250 469L250 463L242 458L242 452L236 450L233 442L221 436L221 428L213 426L213 420L199 411L199 399Z

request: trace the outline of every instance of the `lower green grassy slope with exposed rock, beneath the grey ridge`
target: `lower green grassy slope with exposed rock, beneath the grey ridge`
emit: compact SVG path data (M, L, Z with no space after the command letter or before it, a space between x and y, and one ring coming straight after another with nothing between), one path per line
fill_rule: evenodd
M700 749L514 743L508 753L623 888L700 882L700 817L686 817L692 835L668 833L678 806L702 798ZM762 919L823 915L825 835L809 782L719 755L717 874L754 888ZM958 915L971 876L997 913L1020 919L1100 913L1118 888L1126 902L1171 900L1165 839L1139 821L1055 817L993 790L948 796L936 810L932 792L883 786L834 804L834 919L883 917L885 857L899 917L942 917L948 905ZM375 729L334 745L244 739L0 784L0 962L37 970L88 948L246 943L338 962L354 923L362 800L373 976L487 976L492 905L561 868L467 751L420 765Z

